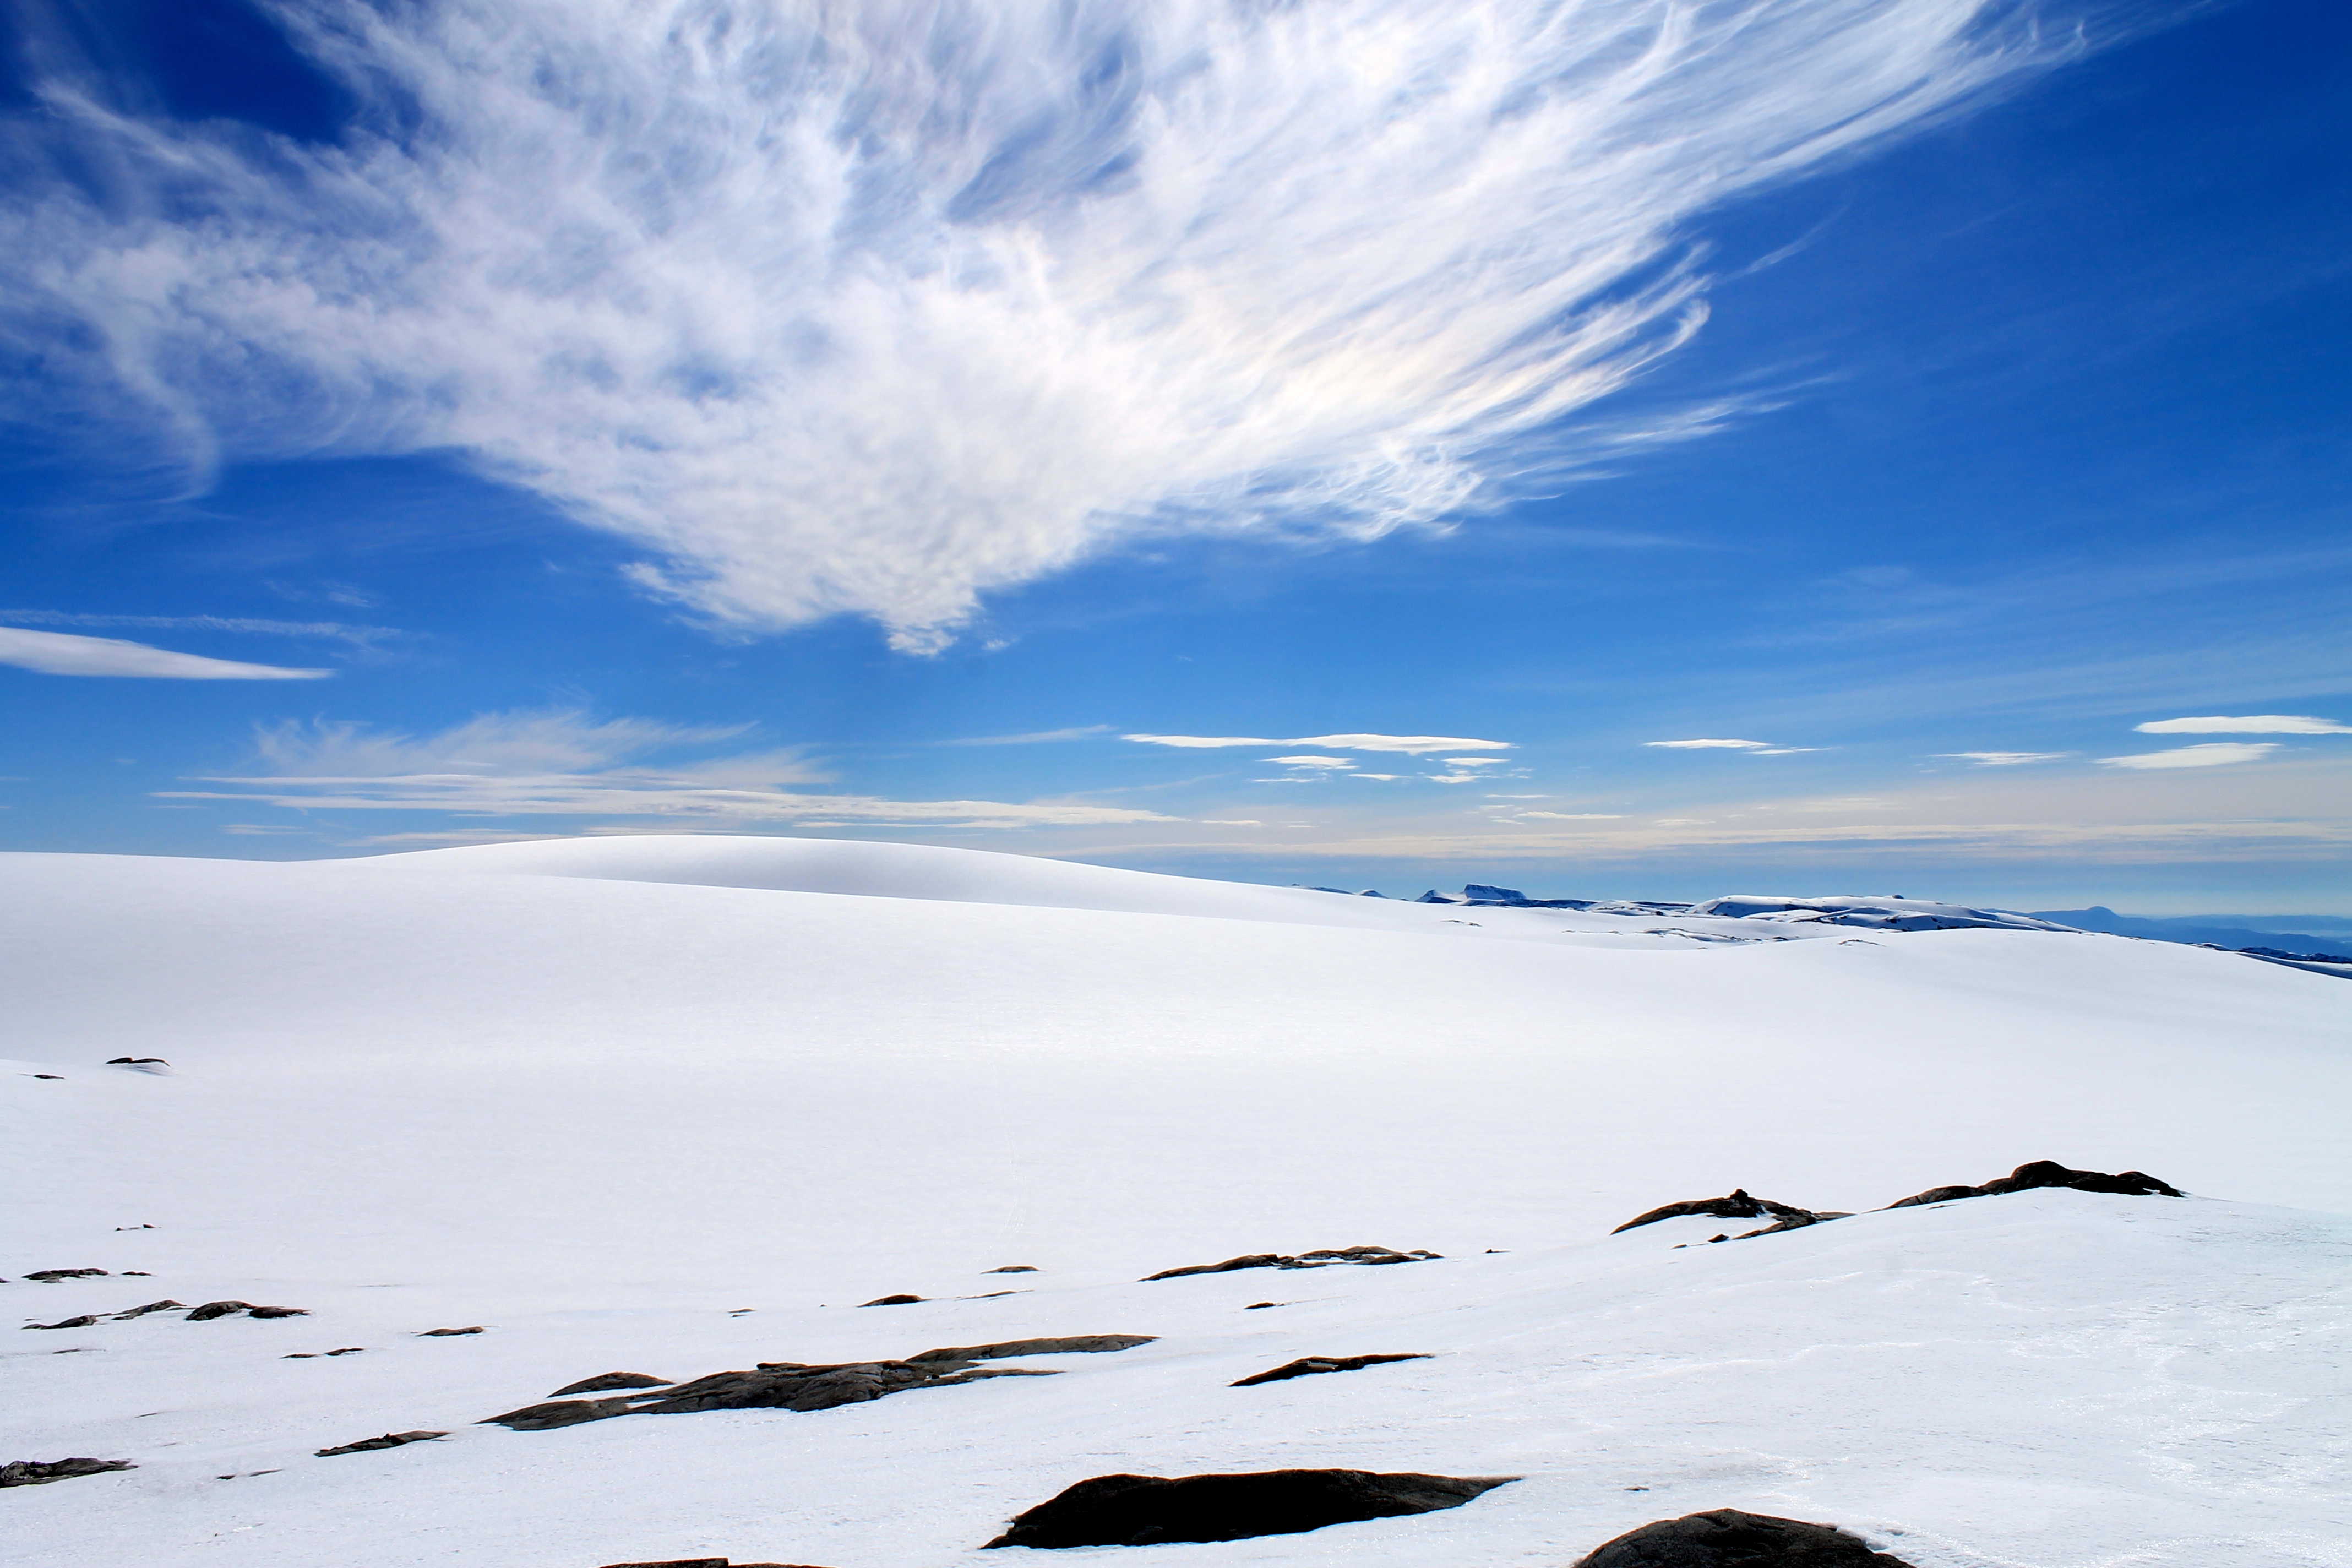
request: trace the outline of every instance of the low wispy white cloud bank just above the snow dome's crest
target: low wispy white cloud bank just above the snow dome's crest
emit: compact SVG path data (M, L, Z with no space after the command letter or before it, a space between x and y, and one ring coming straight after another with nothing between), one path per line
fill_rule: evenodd
M259 802L299 811L447 811L456 816L659 818L675 827L1103 827L1169 823L1157 811L1084 802L880 799L816 795L823 769L790 750L654 764L649 752L708 748L748 726L682 729L581 712L482 715L437 736L360 724L282 724L256 736L270 773L205 778L226 790L160 799ZM388 842L388 839L383 839Z

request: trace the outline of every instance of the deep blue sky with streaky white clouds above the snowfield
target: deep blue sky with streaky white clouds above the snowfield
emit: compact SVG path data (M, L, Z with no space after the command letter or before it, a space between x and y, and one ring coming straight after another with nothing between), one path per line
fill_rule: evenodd
M2352 912L2352 19L1668 9L19 0L0 844Z

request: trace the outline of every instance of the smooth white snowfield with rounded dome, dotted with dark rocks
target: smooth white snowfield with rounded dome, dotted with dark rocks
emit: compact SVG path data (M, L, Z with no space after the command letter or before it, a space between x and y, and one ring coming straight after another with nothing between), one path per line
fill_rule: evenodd
M9 1490L9 1561L1011 1568L974 1552L1087 1476L1277 1467L1524 1481L1082 1556L1559 1566L1748 1507L1919 1568L2352 1561L2331 976L790 842L0 884L0 1302L99 1319L7 1331L0 1460L139 1465ZM1877 1213L2044 1157L2192 1197ZM1606 1234L1733 1187L1863 1213ZM1357 1244L1442 1258L1143 1281ZM26 1281L61 1267L106 1274ZM306 1316L106 1316L158 1300ZM1157 1338L816 1413L475 1425L609 1371L1063 1335ZM1230 1387L1369 1354L1428 1359ZM388 1432L447 1436L315 1458Z

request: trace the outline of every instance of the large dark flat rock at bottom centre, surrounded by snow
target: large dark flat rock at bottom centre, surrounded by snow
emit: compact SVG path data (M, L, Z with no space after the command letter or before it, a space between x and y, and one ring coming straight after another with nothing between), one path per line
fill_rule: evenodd
M1359 1519L1458 1509L1517 1476L1261 1469L1228 1476L1094 1476L1016 1514L988 1547L1157 1547L1298 1535Z

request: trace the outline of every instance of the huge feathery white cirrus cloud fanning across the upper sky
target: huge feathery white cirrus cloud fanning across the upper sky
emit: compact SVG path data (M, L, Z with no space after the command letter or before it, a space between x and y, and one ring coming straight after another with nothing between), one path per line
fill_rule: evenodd
M270 12L341 141L31 54L0 414L463 451L717 623L917 651L1143 534L1376 536L1708 428L1562 423L1696 331L1682 226L2084 49L1994 0Z

